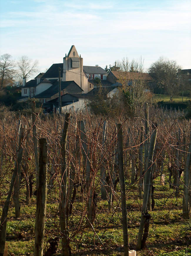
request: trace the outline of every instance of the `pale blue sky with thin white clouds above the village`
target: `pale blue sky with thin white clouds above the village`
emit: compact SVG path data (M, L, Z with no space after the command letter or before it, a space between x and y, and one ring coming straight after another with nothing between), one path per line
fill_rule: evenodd
M0 55L26 55L44 72L63 62L71 45L83 65L160 57L191 68L191 1L0 0Z

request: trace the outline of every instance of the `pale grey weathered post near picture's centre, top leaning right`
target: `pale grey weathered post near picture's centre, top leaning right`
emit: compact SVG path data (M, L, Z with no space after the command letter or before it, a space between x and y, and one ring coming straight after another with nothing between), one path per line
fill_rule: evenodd
M103 126L103 139L102 139L102 149L105 148L105 142L107 139L107 126L108 121L105 120ZM105 172L105 158L103 153L101 154L101 159L103 158L103 163L100 169L100 179L101 179L101 199L107 199L107 192L106 192L106 172Z

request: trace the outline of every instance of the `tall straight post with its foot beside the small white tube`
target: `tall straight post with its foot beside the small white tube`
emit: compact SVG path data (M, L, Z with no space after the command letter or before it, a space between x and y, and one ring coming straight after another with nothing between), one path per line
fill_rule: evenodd
M125 196L125 178L123 170L123 134L121 124L117 125L117 141L118 141L118 157L119 157L119 179L121 188L121 208L122 208L122 223L123 223L123 244L124 244L124 256L129 254L128 243L128 226L127 226L127 207Z

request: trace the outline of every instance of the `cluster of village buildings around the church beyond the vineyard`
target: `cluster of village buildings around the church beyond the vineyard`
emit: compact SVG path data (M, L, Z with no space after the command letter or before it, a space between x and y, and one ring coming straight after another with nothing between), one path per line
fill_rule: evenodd
M191 70L179 70L181 75L188 75ZM97 95L100 87L104 88L106 97L112 98L119 93L121 77L125 73L128 85L132 80L142 80L148 88L155 87L153 76L143 72L123 72L104 70L98 65L83 66L83 58L78 55L76 47L71 46L68 55L63 57L63 63L53 64L45 73L39 73L34 79L26 82L23 79L21 98L18 102L36 98L43 103L44 112L81 110L85 108L88 99ZM60 90L60 97L59 97ZM59 100L60 98L60 100Z

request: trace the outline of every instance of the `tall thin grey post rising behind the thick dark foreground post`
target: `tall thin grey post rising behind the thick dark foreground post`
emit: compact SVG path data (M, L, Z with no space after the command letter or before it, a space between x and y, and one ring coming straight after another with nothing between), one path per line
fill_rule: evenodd
M36 103L33 101L31 103L32 108L32 128L33 128L33 149L36 167L36 188L38 187L38 148L37 148L37 137L36 137Z

